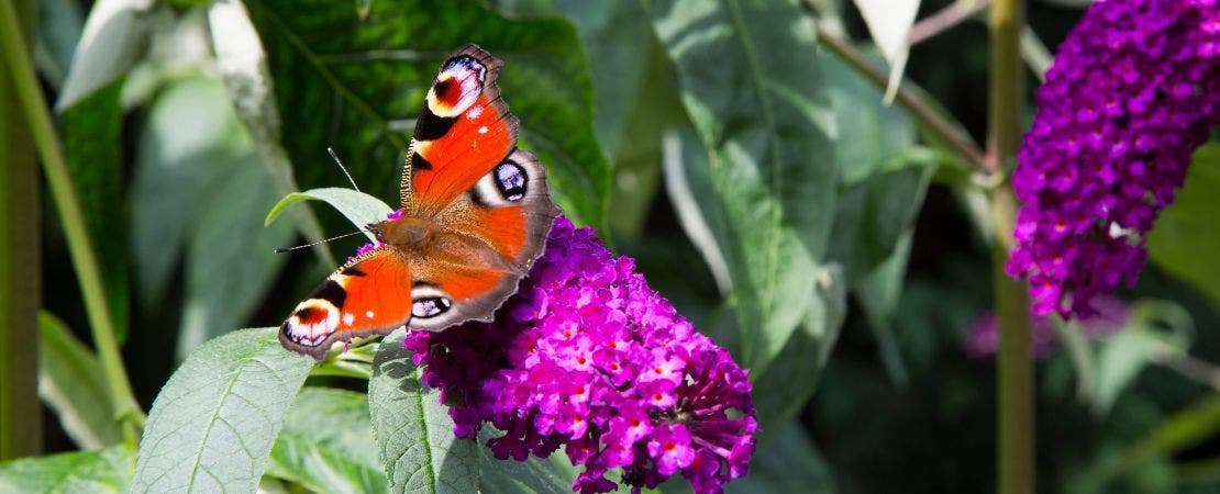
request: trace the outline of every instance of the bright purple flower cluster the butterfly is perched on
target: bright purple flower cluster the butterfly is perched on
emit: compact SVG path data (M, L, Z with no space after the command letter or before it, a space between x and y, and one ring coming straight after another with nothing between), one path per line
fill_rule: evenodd
M559 217L545 254L492 323L409 332L423 382L450 405L455 434L483 423L499 459L565 448L582 493L681 472L697 493L747 472L758 431L750 383L728 353L653 292L634 261Z

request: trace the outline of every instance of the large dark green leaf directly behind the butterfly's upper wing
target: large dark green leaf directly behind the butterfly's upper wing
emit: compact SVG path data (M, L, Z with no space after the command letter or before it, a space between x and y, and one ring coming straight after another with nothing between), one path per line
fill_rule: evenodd
M440 60L475 41L503 57L501 95L521 118L521 145L548 166L558 202L600 224L609 167L592 128L589 74L580 39L562 20L509 20L475 1L251 1L284 146L298 165L333 146L371 194L396 196L414 118ZM336 183L332 167L299 166L303 187Z

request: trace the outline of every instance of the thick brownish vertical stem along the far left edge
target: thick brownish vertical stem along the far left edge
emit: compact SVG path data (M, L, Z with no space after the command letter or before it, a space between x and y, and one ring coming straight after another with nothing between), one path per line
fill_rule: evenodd
M20 23L34 26L37 2L20 6ZM0 105L17 93L0 78ZM38 163L21 113L0 115L0 460L41 453L38 401L39 229ZM20 423L21 427L10 427Z

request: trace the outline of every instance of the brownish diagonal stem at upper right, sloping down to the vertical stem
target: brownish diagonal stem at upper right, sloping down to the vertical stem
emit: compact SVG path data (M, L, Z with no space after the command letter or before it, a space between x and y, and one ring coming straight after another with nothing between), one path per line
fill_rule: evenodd
M819 43L834 52L834 55L839 59L843 59L843 61L852 66L852 68L856 72L867 77L869 81L872 81L872 83L878 88L886 88L886 84L888 83L888 74L874 65L872 61L864 55L864 52L853 46L847 39L833 34L831 29L822 26L821 22L814 21L814 28L817 30ZM992 160L988 160L983 151L978 149L978 145L970 138L970 134L966 134L966 132L961 129L960 124L950 122L937 112L932 105L925 100L924 91L917 89L914 83L904 81L903 84L898 87L895 100L899 105L910 111L920 124L927 128L932 134L948 143L949 148L961 155L961 157L966 161L988 172L996 171Z

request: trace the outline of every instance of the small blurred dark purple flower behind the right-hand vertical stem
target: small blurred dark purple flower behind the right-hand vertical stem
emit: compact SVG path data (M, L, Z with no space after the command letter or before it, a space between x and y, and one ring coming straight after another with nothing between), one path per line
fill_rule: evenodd
M1100 295L1092 301L1093 312L1080 321L1085 338L1099 339L1118 333L1127 324L1130 310L1121 300ZM1030 355L1043 359L1055 348L1052 316L1030 315ZM965 350L971 359L989 359L999 349L999 323L996 313L987 311L966 329Z

